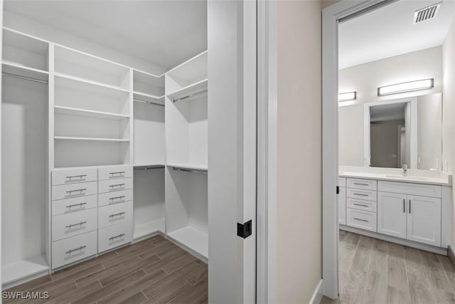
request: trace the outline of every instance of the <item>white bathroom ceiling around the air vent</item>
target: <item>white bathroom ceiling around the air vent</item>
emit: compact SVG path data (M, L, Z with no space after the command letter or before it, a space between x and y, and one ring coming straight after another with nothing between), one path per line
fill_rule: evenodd
M414 11L442 2L435 19L412 24ZM454 17L453 0L400 0L338 27L338 67L441 46Z

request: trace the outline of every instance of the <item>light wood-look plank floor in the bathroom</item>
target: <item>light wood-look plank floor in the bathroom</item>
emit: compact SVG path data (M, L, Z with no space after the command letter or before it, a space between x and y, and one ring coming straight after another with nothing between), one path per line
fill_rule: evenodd
M340 231L340 297L321 303L455 303L455 269L435 253Z

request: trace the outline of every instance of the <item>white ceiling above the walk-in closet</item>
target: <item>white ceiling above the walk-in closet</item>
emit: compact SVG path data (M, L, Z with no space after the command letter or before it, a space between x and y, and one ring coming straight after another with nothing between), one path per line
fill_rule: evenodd
M4 9L166 70L207 49L206 0L6 0Z

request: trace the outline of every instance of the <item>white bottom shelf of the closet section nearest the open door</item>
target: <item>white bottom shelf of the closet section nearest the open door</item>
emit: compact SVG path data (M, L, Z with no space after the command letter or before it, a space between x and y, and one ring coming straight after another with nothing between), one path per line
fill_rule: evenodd
M193 251L205 262L208 261L208 234L192 226L185 226L167 234L168 239L175 241L184 248Z

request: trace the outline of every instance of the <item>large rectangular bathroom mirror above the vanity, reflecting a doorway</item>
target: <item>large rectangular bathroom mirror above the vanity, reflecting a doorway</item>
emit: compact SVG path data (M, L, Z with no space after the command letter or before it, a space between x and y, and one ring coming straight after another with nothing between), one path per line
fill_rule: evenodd
M341 106L339 163L441 169L442 95Z

